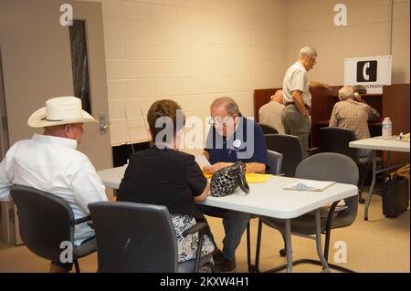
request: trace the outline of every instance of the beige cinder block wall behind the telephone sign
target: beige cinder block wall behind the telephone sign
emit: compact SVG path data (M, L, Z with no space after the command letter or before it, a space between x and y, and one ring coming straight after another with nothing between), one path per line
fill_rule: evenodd
M394 0L392 83L409 83L409 0ZM286 1L287 64L301 46L319 53L310 78L342 85L344 58L390 55L391 0L346 0L348 26L334 26L332 0ZM301 12L303 12L301 14ZM303 16L302 16L303 15Z

